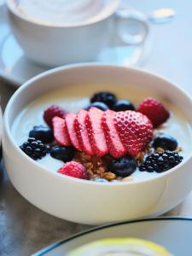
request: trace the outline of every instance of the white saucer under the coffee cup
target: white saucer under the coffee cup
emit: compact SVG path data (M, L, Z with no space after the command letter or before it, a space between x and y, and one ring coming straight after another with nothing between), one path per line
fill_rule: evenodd
M117 46L113 43L113 45L104 49L95 61L126 67L142 66L149 49L149 40L138 46ZM6 8L4 4L0 4L0 76L18 87L26 80L48 69L48 67L40 67L26 59L23 50L20 49L10 31Z

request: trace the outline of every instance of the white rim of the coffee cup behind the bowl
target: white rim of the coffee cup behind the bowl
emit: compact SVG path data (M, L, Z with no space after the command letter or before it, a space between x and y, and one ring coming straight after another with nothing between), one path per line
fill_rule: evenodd
M95 18L92 18L90 20L88 19L88 20L83 20L83 21L74 21L74 22L67 23L67 25L65 25L64 23L51 24L44 20L38 21L38 20L28 17L27 15L23 15L21 12L16 10L15 3L12 3L11 0L5 0L5 4L8 7L9 11L13 15L15 15L17 18L19 18L22 21L31 23L32 25L49 27L49 28L75 28L75 27L80 27L80 26L93 25L93 24L99 23L102 20L108 19L118 9L119 0L113 0L113 3L110 4L110 8L106 12L105 12L106 7L104 7L103 10L101 11L102 15L96 14Z

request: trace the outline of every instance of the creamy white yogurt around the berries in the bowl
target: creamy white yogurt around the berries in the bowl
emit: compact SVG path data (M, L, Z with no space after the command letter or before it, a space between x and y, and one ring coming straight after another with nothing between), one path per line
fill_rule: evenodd
M110 84L110 91L115 92L115 90L118 91L117 87L113 87L113 85ZM99 88L98 91L100 91ZM46 125L44 123L43 114L44 109L49 108L50 105L56 104L67 111L77 113L79 109L84 108L90 102L90 96L93 92L95 91L92 91L91 86L82 85L80 87L71 86L67 90L55 90L54 92L49 92L44 96L39 96L37 100L29 103L15 119L11 127L11 132L15 138L15 142L20 146L22 143L26 142L29 131L32 130L34 125ZM154 96L157 98L157 96L151 92L149 93L144 90L141 91L137 89L134 89L134 93L132 94L129 92L126 93L124 90L117 93L119 98L125 98L125 95L129 95L129 100L131 100L131 102L136 106L146 96ZM190 153L190 148L192 147L191 126L189 125L188 120L184 117L182 111L174 106L172 102L169 102L166 99L160 99L160 101L164 103L171 113L171 116L166 123L161 126L161 129L154 130L154 133L163 132L164 134L174 137L177 140L178 146L182 148L182 152L180 154L183 158L186 158ZM56 160L50 157L49 154L43 159L38 160L38 163L44 166L48 172L57 172L57 170L63 166L63 162L61 160ZM160 173L156 172L140 172L137 170L131 175L131 177L133 177L134 181L141 181L160 175Z

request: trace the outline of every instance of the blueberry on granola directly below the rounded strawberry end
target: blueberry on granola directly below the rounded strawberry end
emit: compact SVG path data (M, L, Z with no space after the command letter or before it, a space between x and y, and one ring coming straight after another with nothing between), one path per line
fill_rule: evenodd
M108 164L108 170L120 177L130 176L136 169L136 160L132 159L131 156L113 159Z

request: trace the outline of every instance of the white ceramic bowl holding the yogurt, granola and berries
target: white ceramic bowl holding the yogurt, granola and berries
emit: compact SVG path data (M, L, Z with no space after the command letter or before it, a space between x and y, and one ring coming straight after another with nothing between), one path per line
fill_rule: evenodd
M172 170L147 181L93 183L49 172L20 150L10 132L20 110L49 90L60 87L67 90L67 86L74 84L90 84L92 91L97 91L96 84L117 84L117 90L130 87L129 94L134 88L155 91L176 104L192 125L189 96L152 73L96 64L55 68L23 84L10 99L4 114L3 159L15 189L45 212L83 224L158 215L183 201L192 189L191 154Z

